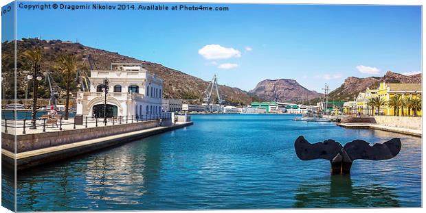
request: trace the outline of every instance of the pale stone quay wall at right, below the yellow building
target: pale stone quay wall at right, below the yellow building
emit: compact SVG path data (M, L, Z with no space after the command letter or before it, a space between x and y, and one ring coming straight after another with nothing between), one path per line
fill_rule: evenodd
M377 124L388 127L399 127L405 129L422 129L422 117L408 116L374 116Z

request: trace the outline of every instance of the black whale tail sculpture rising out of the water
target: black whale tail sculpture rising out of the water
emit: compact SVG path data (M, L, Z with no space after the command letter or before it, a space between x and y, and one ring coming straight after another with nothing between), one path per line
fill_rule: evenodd
M352 140L344 147L335 140L309 143L303 136L294 142L294 148L300 160L325 159L331 164L331 173L350 174L352 162L363 160L388 160L398 155L401 150L401 140L393 138L373 146L364 140Z

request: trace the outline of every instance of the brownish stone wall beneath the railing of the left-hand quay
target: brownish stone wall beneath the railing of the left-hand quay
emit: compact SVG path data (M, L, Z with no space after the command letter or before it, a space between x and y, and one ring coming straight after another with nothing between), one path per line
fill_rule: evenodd
M16 136L16 152L31 151L65 145L72 142L91 140L105 136L112 136L131 131L139 131L159 126L159 121L144 121L139 123L126 123L106 127L91 127L86 129L71 129L64 131L44 132L40 134L26 134ZM1 148L14 151L14 136L1 134Z

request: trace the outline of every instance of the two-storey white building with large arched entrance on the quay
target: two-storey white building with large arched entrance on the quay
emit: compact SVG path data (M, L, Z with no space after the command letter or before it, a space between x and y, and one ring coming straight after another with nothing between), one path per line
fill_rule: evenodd
M104 79L108 79L106 116L161 113L163 82L142 64L111 64L109 71L91 71L90 91L78 92L77 112L103 117Z

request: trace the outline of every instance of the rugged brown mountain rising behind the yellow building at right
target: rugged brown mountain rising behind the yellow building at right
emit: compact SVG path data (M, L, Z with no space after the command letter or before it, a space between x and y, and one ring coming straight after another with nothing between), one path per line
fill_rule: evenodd
M422 75L421 73L416 75L402 75L388 71L383 77L348 77L345 79L344 84L341 84L339 88L330 92L329 100L352 101L354 95L357 96L359 92L365 91L366 88L379 88L380 82L421 84Z

